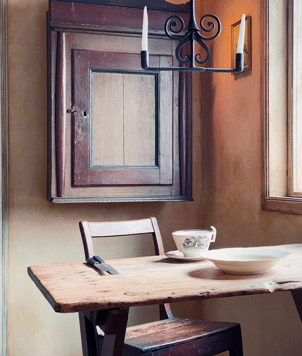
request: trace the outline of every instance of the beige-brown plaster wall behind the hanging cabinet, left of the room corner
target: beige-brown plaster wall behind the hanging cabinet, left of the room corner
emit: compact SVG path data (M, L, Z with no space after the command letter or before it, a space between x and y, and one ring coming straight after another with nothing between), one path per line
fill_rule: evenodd
M194 202L52 204L46 200L46 11L47 0L8 0L9 75L9 355L80 356L78 316L56 314L27 275L39 264L83 261L78 222L156 216L165 251L171 232L202 227L201 80L194 79ZM152 255L152 242L107 240L104 258ZM160 288L160 286L159 286ZM175 315L198 317L201 303L177 303ZM144 315L144 313L146 315ZM134 310L129 324L157 318L156 307Z

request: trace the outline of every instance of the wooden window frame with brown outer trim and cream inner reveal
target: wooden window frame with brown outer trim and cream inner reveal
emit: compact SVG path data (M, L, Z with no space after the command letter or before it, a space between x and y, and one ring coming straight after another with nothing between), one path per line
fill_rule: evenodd
M292 6L295 0L261 1L261 112L263 210L302 214L292 196ZM288 53L288 56L284 56ZM290 90L288 90L288 87ZM289 100L290 98L290 100ZM289 104L289 105L288 105Z

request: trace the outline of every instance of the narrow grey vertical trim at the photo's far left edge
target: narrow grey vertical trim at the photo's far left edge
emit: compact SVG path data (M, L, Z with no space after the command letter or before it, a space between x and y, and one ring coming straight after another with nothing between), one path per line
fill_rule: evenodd
M8 115L7 115L7 39L6 39L6 9L7 1L0 1L0 88L1 88L1 130L0 130L0 234L1 249L1 292L0 292L0 328L1 349L0 356L8 356Z

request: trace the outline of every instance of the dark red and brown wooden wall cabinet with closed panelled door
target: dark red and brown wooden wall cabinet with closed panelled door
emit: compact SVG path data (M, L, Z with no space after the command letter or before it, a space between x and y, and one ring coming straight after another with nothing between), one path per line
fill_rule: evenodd
M143 7L150 66L178 62L163 26L187 5L50 0L48 199L54 203L192 199L190 73L140 67Z

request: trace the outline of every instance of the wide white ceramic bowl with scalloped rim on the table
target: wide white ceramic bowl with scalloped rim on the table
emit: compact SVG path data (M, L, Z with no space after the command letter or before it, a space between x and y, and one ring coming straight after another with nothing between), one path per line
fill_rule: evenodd
M203 251L200 256L230 274L260 274L269 271L291 253L277 248L235 247Z

